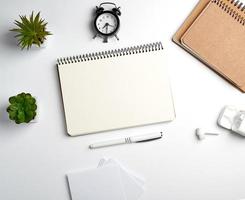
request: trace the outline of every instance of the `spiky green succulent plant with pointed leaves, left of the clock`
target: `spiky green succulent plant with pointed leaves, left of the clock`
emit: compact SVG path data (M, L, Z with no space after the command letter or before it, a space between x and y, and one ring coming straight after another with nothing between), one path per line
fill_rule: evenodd
M48 35L52 35L46 30L47 22L40 18L40 12L34 16L34 13L29 18L20 15L20 21L15 20L15 25L18 28L11 29L10 31L16 32L15 36L21 49L30 49L32 45L40 47Z

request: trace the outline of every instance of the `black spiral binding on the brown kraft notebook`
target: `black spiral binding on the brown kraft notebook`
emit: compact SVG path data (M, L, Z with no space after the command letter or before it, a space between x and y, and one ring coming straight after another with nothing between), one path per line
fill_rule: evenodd
M212 0L212 3L217 4L226 13L228 13L236 21L238 21L240 24L242 24L244 26L245 25L245 16L242 16L242 14L245 14L245 5L242 2L240 2L240 0L228 0L228 2L230 2L232 5L234 5L235 8L237 8L238 10L229 6L224 0Z

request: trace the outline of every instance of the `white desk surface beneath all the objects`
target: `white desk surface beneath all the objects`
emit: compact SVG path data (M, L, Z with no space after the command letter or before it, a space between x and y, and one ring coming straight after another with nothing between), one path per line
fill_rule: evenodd
M103 156L119 159L144 176L142 200L239 200L245 198L245 139L218 128L224 105L245 104L245 96L171 42L197 0L116 1L122 7L120 41L92 40L92 9L100 1L1 0L0 12L0 199L69 200L65 174L96 166ZM16 47L13 21L41 11L53 36L46 48ZM56 58L163 40L177 118L169 124L69 137ZM6 120L9 96L31 92L38 98L38 123ZM105 114L106 117L106 114ZM221 132L198 142L194 129ZM164 139L91 151L91 142L131 134L164 131Z

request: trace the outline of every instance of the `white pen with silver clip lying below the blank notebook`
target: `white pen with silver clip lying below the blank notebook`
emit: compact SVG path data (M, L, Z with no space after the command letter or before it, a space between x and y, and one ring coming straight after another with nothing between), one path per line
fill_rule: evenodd
M89 148L98 149L102 147L108 147L108 146L114 146L114 145L120 145L120 144L149 142L149 141L161 139L162 136L163 136L162 132L150 133L150 134L145 134L145 135L137 135L137 136L127 137L127 138L120 138L120 139L107 140L107 141L94 143L94 144L89 145Z

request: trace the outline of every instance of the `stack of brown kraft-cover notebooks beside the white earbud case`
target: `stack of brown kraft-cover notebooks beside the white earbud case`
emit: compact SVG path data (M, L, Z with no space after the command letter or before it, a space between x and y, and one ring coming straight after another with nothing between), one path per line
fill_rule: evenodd
M235 0L201 0L174 42L245 92L245 6Z

